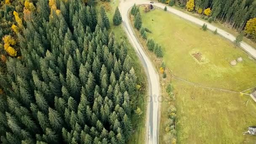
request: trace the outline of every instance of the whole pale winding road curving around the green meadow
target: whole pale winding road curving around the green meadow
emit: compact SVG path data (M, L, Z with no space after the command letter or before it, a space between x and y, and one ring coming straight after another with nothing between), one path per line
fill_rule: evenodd
M137 55L139 56L139 59L141 60L145 72L147 74L148 78L148 84L149 84L149 101L147 106L147 122L146 122L146 138L145 143L146 144L157 144L158 141L158 125L159 125L159 94L160 94L160 83L159 83L159 76L157 74L157 71L155 70L152 62L147 57L146 53L144 52L142 46L140 45L139 41L137 40L135 34L133 33L133 29L131 27L131 24L129 22L129 9L134 5L142 5L142 4L149 4L150 0L120 0L119 4L119 10L123 18L123 25L125 28L125 32L128 35L129 40L131 41L131 44L136 50ZM164 8L165 5L162 3L154 3L154 6L158 8ZM208 29L214 31L215 29L218 30L219 35L227 38L230 41L234 41L235 37L228 32L219 29L217 27L214 27L212 24L209 24L205 21L202 21L200 19L197 19L193 16L190 16L187 13L184 13L182 11L176 10L171 7L167 7L167 11L171 12L173 14L176 14L177 16L186 19L188 21L192 21L193 23L202 26L203 24L207 24ZM256 59L256 49L251 47L245 42L242 42L240 45L248 54L253 56L254 59Z

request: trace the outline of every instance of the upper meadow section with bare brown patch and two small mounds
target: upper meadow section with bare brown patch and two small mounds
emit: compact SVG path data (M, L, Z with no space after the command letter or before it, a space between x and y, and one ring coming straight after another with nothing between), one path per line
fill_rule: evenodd
M144 27L152 31L148 37L163 47L163 59L173 75L201 85L234 91L254 85L255 62L231 42L163 10L141 12L141 15ZM190 54L193 51L202 54L208 63L198 64ZM232 67L229 62L238 57L242 57L243 62Z

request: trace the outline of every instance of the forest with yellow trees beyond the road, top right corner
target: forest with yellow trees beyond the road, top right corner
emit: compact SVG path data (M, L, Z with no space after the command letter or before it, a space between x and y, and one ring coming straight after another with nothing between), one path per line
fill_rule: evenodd
M211 19L218 19L225 26L241 32L245 30L253 40L256 40L256 0L160 0L170 6L179 5L188 11L205 14Z

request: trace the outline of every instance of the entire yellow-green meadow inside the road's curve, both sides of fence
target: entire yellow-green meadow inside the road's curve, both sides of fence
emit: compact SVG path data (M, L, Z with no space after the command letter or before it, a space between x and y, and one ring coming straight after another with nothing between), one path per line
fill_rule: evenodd
M143 8L140 10L143 26L152 31L147 37L162 46L163 60L173 75L199 85L232 91L243 91L256 85L255 61L230 41L163 10L155 9L149 13L144 13ZM136 34L140 37L139 32ZM146 42L139 39L146 49ZM243 61L231 66L229 62L238 57ZM150 58L154 58L153 53ZM179 143L256 142L255 136L242 134L248 126L256 124L256 104L249 96L206 89L174 78L172 83ZM165 108L168 104L162 103L161 125L167 118ZM161 143L164 143L164 133L161 128Z

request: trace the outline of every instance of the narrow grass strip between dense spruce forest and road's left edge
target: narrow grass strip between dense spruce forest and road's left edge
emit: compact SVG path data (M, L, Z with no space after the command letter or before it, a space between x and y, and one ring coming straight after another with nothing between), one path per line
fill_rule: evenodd
M143 111L143 114L141 118L137 118L134 114L132 117L132 123L134 128L134 133L131 136L130 141L128 141L128 144L144 144L145 141L145 118L146 118L146 112L147 112L147 77L144 72L144 69L142 68L141 62L139 58L136 55L136 52L134 51L133 47L131 46L128 38L126 37L125 31L123 30L122 24L119 26L115 26L113 24L112 18L115 13L115 8L118 6L119 0L113 0L112 2L98 2L96 4L96 9L99 11L101 6L104 6L107 12L107 16L109 18L110 23L110 32L115 33L115 38L121 42L124 40L126 44L128 45L128 55L131 56L131 59L133 61L133 67L136 70L136 75L138 77L139 84L142 85L142 90L140 91L141 94L139 94L140 101L137 101L137 106Z

